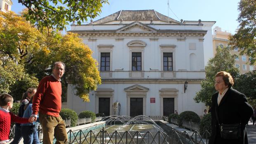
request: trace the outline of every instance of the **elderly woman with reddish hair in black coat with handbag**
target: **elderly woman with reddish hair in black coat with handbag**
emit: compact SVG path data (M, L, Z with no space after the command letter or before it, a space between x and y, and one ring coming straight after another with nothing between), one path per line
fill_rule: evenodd
M215 89L211 105L211 138L209 144L248 144L245 125L253 114L244 94L234 90L230 73L215 75ZM237 133L236 133L236 130Z

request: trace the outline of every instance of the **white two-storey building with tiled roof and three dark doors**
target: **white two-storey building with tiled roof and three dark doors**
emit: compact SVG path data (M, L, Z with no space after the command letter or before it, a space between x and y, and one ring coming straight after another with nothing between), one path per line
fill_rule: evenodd
M90 24L71 25L93 51L102 84L83 102L68 85L67 108L112 115L168 116L183 111L203 115L194 102L205 78L205 30L214 21L176 21L154 10L122 10ZM210 47L212 50L212 47ZM210 49L209 48L209 49Z

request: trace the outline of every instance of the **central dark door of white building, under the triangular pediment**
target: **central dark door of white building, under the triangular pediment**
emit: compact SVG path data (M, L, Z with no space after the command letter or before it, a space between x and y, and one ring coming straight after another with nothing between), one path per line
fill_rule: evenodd
M143 98L130 98L130 116L143 115Z

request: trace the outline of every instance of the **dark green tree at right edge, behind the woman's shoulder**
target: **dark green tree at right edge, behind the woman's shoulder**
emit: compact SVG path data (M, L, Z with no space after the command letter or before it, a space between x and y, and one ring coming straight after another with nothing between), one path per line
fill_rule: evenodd
M256 71L249 71L237 77L234 87L247 96L252 106L256 106Z

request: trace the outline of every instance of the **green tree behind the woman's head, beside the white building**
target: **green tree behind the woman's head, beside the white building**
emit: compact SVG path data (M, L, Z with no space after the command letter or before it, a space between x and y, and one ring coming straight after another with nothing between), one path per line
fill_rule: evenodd
M201 90L197 92L194 101L203 102L206 106L211 106L211 96L216 92L214 87L215 75L219 71L226 71L233 78L239 75L239 71L235 68L236 55L230 54L230 47L218 47L216 55L209 60L205 71L206 79L201 81Z

